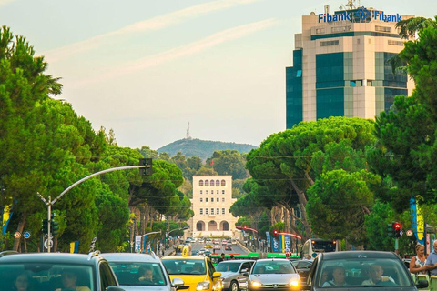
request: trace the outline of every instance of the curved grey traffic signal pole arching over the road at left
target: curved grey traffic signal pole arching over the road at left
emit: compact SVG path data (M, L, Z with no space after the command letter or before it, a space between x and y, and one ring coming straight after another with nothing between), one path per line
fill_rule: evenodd
M72 184L71 186L68 186L64 191L62 191L61 194L59 194L59 196L57 196L53 201L52 201L52 197L48 196L48 201L46 200L46 198L44 196L42 196L39 193L36 193L36 195L41 198L41 200L43 200L43 202L46 204L47 206L47 253L50 253L50 248L52 246L52 233L50 231L50 224L51 224L51 218L52 218L52 206L55 205L56 201L59 200L62 196L64 196L66 194L66 192L70 191L72 188L74 188L75 186L81 184L82 182L85 182L87 179L92 178L93 176L98 176L98 175L102 175L105 173L109 173L109 172L114 172L114 171L119 171L119 170L127 170L127 169L135 169L135 168L146 168L147 170L149 170L147 172L147 175L145 176L150 176L151 175L151 171L152 171L152 166L151 166L151 160L152 159L147 159L147 163L143 162L143 159L140 159L140 164L139 166L118 166L118 167L112 167L94 174L91 174L89 176L86 176L80 180L78 180L76 183ZM149 163L150 162L150 163ZM144 164L143 164L144 163Z

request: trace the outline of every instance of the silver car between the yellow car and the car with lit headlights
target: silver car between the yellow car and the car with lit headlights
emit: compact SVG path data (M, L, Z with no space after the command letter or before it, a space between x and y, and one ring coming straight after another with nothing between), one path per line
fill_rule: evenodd
M221 273L224 290L239 291L248 289L248 277L244 273L250 271L254 260L222 261L216 266Z

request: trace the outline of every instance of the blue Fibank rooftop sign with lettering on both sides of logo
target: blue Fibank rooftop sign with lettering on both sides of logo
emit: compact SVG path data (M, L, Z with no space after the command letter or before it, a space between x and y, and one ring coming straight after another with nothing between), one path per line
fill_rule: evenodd
M367 17L369 17L369 15L371 15L371 12L369 10L367 10L366 8L361 7L360 9L358 9L355 12L342 11L341 13L335 14L335 15L330 15L329 13L320 14L319 15L319 23L321 23L321 22L336 22L336 21L344 21L344 20L351 21L351 18L353 17L353 15L357 15L358 17L360 17L361 20L364 21L367 19ZM372 18L374 20L382 20L385 22L399 22L399 21L401 21L401 15L399 15L399 14L386 15L383 11L380 11L380 10L375 10L373 12Z

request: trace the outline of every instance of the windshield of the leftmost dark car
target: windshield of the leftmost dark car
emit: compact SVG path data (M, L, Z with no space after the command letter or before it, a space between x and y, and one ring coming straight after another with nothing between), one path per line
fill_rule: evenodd
M2 290L71 289L72 284L83 286L84 291L94 291L92 267L45 263L0 265Z

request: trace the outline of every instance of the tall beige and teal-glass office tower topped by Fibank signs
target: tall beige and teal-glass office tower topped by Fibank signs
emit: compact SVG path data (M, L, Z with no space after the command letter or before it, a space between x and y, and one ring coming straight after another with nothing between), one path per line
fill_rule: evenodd
M302 16L293 66L286 68L287 128L329 116L375 118L412 80L387 62L403 49L396 23L412 15L374 8Z

